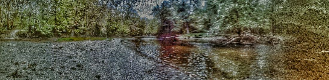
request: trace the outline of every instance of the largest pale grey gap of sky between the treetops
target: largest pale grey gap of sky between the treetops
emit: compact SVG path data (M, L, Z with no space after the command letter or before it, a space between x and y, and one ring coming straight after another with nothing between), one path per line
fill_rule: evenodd
M139 9L138 14L140 17L146 17L152 19L153 16L150 15L152 8L156 5L160 5L164 0L141 0L137 9Z

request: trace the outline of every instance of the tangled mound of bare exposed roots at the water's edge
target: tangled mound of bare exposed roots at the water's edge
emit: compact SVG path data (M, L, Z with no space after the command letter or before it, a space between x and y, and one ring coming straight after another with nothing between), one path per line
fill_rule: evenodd
M239 36L229 38L224 45L230 44L232 42L237 42L240 44L257 44L276 41L279 41L279 39L262 34L253 34L250 31L243 31Z

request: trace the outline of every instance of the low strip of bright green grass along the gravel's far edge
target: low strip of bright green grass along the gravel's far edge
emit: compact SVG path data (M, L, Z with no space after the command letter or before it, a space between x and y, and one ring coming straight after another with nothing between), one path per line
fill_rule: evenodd
M70 37L70 38L59 38L57 39L57 41L64 42L64 41L107 40L107 39L108 38L104 38L104 37Z

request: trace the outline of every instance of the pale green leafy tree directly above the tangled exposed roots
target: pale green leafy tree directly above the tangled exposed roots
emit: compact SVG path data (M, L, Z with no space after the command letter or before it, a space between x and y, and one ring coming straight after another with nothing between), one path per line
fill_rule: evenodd
M269 23L266 22L268 17L266 13L263 13L269 8L258 2L253 3L251 0L220 0L209 4L219 6L215 10L217 12L213 12L218 17L213 21L215 24L213 24L212 30L219 29L225 32L240 33L243 30L269 26Z

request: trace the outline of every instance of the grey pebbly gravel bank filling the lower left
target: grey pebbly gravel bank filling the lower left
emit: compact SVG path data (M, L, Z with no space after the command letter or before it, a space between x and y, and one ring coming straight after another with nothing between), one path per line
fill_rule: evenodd
M155 60L126 39L0 42L1 80L154 80Z

